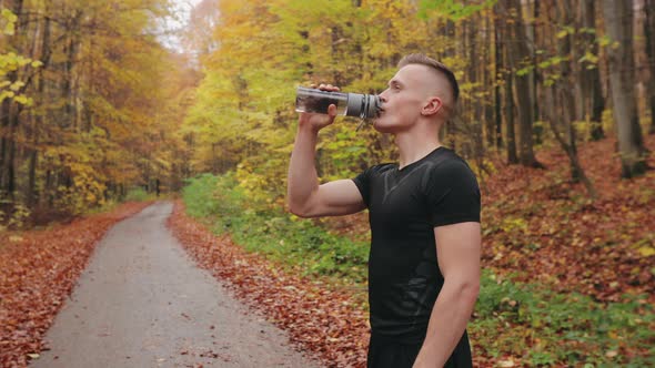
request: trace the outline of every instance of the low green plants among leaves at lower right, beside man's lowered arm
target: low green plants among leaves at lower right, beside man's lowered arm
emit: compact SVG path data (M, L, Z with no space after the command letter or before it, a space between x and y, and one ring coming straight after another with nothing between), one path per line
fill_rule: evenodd
M621 303L601 304L576 293L557 294L485 273L471 330L488 343L483 346L491 355L501 356L510 348L531 366L651 366L655 357L617 352L625 344L647 350L655 340L655 315L646 300L646 295L626 295Z

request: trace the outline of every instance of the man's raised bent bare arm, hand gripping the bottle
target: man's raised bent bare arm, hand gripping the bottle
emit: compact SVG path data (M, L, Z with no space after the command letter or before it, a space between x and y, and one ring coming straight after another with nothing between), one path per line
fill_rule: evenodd
M331 85L322 90L337 91ZM336 106L329 114L301 113L291 163L289 164L288 202L290 211L301 217L347 215L365 208L364 200L351 180L319 185L315 167L319 131L334 121Z

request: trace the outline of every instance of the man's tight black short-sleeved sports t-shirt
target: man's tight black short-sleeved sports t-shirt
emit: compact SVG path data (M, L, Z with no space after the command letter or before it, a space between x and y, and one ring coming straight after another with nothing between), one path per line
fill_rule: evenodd
M372 333L422 343L443 286L434 227L480 222L475 175L453 151L439 147L402 170L397 164L375 165L353 181L371 223Z

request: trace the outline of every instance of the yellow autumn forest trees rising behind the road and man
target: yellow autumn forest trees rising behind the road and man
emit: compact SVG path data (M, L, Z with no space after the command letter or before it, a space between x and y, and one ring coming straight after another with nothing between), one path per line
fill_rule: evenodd
M295 88L384 89L399 59L424 52L462 85L445 142L481 176L490 156L538 167L616 136L623 177L646 171L653 133L651 1L202 1L184 52L159 42L165 1L2 2L4 221L78 214L129 188L177 191L232 171L253 201L283 201ZM389 136L344 120L323 136L320 176L393 160ZM545 167L545 170L547 170ZM46 216L48 217L48 216ZM24 218L27 219L27 218Z

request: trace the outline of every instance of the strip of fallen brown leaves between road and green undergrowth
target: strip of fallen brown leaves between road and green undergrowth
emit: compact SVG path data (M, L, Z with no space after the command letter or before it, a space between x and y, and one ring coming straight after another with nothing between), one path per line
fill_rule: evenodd
M184 214L179 201L168 225L200 266L230 282L238 298L285 329L302 349L329 367L365 366L367 314L356 307L352 293L275 269L228 236L212 235Z

